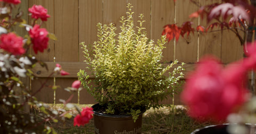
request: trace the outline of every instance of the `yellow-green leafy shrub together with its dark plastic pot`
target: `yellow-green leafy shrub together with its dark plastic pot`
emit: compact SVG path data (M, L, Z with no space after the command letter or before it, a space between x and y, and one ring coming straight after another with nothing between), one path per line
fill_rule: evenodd
M179 85L178 81L183 77L183 63L166 75L178 61L166 67L159 62L163 57L165 36L157 43L149 40L142 27L143 15L139 16L140 25L135 28L131 5L128 4L127 8L127 16L121 17L119 34L113 23L99 23L99 40L94 42L94 50L89 51L84 42L81 43L85 62L95 77L96 86L89 86L89 74L85 70L79 71L78 79L99 102L92 106L96 133L140 133L142 113L151 107L161 106L159 101L172 95L174 85ZM111 115L114 117L112 121L119 122L108 122L107 118ZM130 120L132 127L125 119ZM105 128L99 128L97 122ZM122 125L124 128L117 128Z

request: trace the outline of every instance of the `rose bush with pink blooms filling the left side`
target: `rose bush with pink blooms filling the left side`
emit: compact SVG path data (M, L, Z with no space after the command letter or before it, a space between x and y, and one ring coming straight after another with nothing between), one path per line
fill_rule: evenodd
M49 38L56 39L53 34L41 28L42 24L50 17L47 10L41 5L33 5L28 9L31 25L22 19L22 11L15 12L15 7L20 0L0 1L0 133L56 133L46 122L65 121L73 117L70 111L65 109L50 109L45 103L38 101L35 97L46 86L46 82L54 75L68 75L61 65L56 64L50 76L42 82L38 89L30 90L29 84L22 81L29 78L36 79L31 70L36 64L47 69L47 65L34 56L43 52L49 45ZM17 14L17 15L16 15ZM17 29L24 30L25 35L19 35ZM31 52L30 52L31 49ZM66 90L71 93L65 101L65 106L74 107L68 104L81 82L75 81ZM52 86L53 90L57 86ZM39 112L30 112L26 108L35 106ZM79 112L79 109L77 109ZM84 125L92 118L92 109L83 108L83 111L76 115L74 125Z

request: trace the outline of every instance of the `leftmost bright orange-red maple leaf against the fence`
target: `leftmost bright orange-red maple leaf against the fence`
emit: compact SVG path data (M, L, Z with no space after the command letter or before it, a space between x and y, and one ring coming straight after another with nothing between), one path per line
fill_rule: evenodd
M168 24L164 26L164 31L162 35L166 35L168 41L172 40L174 37L178 41L180 37L181 29L176 24Z

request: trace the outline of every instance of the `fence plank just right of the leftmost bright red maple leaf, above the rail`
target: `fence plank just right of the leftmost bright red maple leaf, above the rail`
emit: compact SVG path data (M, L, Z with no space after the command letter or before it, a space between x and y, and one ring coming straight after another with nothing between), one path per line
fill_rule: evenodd
M197 11L198 7L189 2L189 0L177 1L177 24L182 25L183 22L189 21L188 16ZM193 20L194 25L198 24L198 19ZM181 62L193 63L197 61L197 41L198 34L190 33L189 37L185 34L184 38L179 39L176 44L175 58Z

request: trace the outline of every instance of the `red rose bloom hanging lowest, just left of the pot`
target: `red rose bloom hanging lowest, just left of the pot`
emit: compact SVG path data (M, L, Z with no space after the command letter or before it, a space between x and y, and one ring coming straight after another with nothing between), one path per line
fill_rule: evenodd
M89 123L89 121L93 118L93 109L86 107L82 108L81 115L77 114L76 117L74 118L74 126L84 126L85 124Z

